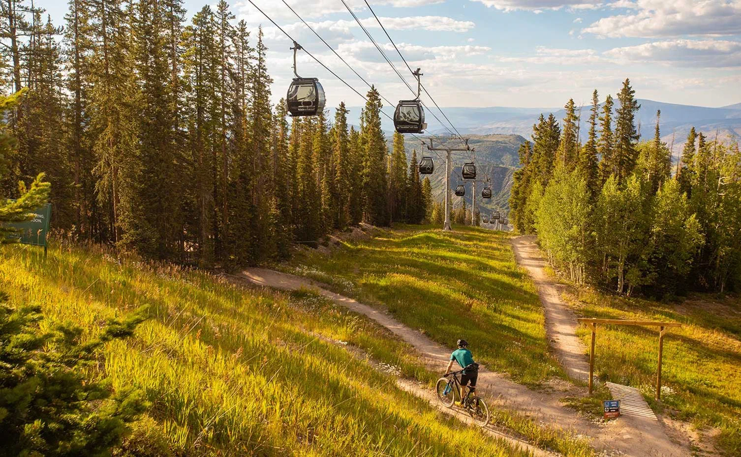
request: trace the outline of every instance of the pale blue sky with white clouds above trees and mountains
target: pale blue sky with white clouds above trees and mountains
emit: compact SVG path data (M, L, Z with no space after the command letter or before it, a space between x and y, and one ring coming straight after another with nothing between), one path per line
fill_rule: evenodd
M293 16L282 0L253 0L359 92L367 87ZM341 0L286 0L391 101L411 98ZM413 79L364 0L345 0L411 84ZM210 2L214 4L215 1ZM237 19L265 27L273 100L290 83L291 45L247 0ZM741 102L741 0L369 0L423 83L443 107L560 107L615 94L625 77L637 96L719 107ZM62 24L67 7L36 0ZM188 19L204 4L185 0ZM256 34L255 34L256 35ZM396 57L394 57L396 56ZM362 99L308 56L299 74L317 76L328 106Z

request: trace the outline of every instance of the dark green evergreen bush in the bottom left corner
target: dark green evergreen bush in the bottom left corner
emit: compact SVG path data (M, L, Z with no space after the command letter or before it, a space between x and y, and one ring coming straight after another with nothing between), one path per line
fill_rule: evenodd
M98 338L80 342L70 324L41 332L38 307L13 308L0 293L0 456L104 456L145 410L141 393L94 381L99 347L132 335L139 310L109 321Z

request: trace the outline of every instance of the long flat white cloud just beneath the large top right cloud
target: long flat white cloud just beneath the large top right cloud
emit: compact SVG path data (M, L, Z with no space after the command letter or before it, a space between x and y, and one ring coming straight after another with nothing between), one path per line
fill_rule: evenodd
M621 63L660 62L678 67L741 67L741 42L725 40L667 40L617 47L605 56Z

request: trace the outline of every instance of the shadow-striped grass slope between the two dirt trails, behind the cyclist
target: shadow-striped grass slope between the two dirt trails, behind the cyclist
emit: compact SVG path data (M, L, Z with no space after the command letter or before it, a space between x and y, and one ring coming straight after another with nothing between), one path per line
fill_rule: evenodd
M477 361L518 381L562 374L548 353L536 288L516 266L508 233L400 226L330 253L303 250L290 271L388 307L445 346L465 338Z

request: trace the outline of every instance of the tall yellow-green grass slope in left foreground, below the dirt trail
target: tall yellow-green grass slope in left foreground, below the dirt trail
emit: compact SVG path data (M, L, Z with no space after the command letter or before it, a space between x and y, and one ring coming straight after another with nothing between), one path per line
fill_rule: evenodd
M152 403L139 456L516 456L403 393L342 344L413 372L408 348L312 293L246 290L205 273L119 263L85 250L0 247L0 290L51 321L96 333L150 304L153 317L105 348L98 376Z

